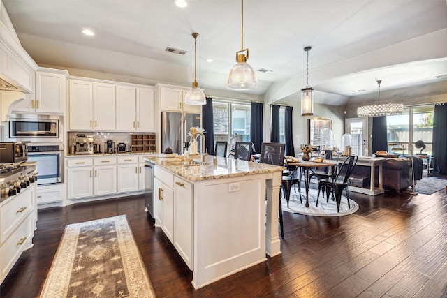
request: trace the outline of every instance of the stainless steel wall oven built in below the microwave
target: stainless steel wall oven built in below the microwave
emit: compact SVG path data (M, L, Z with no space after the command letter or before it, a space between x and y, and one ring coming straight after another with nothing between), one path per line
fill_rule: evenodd
M37 161L37 185L64 183L64 145L29 144L28 161Z

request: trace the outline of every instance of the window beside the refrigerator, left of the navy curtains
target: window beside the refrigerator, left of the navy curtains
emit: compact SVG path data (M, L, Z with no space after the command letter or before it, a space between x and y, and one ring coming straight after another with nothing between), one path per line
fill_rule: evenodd
M251 142L251 104L213 100L214 141Z

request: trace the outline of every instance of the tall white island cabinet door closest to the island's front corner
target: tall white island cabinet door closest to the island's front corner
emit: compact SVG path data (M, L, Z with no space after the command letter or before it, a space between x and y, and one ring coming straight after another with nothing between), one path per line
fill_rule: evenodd
M175 177L174 246L186 265L193 266L193 186Z

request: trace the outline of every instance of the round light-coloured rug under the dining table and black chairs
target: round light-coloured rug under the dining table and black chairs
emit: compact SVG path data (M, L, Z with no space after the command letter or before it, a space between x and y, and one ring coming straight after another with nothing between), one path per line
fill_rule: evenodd
M320 193L320 200L318 201L318 206L316 206L316 189L309 189L309 207L306 207L306 193L305 190L301 190L302 194L302 204L300 202L300 194L291 191L291 198L288 202L284 198L281 198L282 211L292 212L297 214L309 215L309 216L344 216L348 214L353 214L358 210L358 204L353 200L349 200L351 207L348 207L348 201L344 195L342 195L342 202L340 202L340 211L337 212L337 204L329 198L329 202L322 197ZM343 192L344 193L344 192Z

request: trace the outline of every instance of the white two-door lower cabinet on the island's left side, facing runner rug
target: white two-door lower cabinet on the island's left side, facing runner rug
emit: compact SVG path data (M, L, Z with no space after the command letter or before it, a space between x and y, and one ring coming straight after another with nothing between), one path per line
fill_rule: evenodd
M193 184L155 167L155 224L193 268Z

